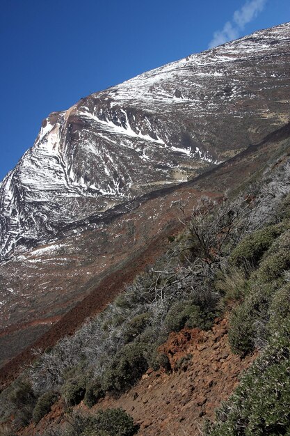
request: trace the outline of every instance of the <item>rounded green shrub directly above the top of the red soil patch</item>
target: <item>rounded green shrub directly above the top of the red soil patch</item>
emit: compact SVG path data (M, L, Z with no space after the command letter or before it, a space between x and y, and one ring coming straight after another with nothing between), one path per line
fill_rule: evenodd
M165 325L170 332L179 332L184 327L199 327L208 330L214 320L213 313L202 311L199 306L191 302L177 302L170 310L165 319Z

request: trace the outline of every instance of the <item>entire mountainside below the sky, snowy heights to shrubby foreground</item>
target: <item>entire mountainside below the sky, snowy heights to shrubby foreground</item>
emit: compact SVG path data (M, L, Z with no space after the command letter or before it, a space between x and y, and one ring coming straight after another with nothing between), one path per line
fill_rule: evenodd
M4 436L290 432L289 39L44 120L0 185Z

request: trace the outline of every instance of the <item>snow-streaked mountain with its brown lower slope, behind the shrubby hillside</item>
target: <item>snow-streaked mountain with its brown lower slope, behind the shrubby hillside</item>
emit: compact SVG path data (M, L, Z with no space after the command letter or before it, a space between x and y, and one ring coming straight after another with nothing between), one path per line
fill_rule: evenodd
M290 23L258 31L44 120L0 185L2 363L73 332L166 250L183 204L190 215L273 157L289 129L289 40Z

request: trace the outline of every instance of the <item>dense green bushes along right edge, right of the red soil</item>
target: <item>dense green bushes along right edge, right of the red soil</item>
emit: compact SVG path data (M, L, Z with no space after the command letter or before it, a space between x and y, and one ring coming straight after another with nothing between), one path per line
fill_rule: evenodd
M275 219L279 224L244 238L232 252L232 263L248 277L239 285L243 299L232 311L229 341L236 352L262 352L216 423L207 423L208 436L290 434L289 196Z

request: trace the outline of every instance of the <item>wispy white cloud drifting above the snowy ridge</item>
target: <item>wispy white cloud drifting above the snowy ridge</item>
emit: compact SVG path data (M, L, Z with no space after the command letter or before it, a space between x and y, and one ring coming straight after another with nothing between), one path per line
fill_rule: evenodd
M264 9L267 0L248 0L236 10L231 21L225 23L223 30L214 32L214 36L209 42L209 49L217 45L224 44L227 41L239 38L245 24L254 20L257 15Z

